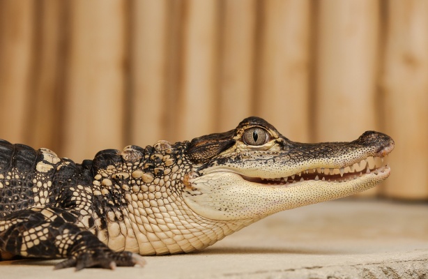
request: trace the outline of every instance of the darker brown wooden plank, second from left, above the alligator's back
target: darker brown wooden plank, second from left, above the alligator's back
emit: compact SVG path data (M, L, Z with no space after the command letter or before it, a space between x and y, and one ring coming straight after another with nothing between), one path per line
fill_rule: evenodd
M63 78L66 68L66 2L38 2L36 57L33 67L31 107L26 115L26 140L35 148L59 150L63 112Z

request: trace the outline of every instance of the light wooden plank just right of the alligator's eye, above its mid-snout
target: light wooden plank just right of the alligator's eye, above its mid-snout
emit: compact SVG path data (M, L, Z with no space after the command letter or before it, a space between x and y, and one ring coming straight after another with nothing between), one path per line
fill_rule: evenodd
M255 111L291 140L309 140L309 1L263 4Z

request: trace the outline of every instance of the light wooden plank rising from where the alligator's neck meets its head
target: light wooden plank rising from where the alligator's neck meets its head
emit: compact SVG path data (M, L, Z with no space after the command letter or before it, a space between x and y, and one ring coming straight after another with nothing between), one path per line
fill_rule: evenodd
M183 60L174 140L215 132L218 2L187 0L183 16Z

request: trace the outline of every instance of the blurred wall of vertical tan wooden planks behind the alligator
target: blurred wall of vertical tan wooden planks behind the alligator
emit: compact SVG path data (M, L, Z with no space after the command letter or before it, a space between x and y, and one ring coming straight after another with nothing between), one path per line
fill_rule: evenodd
M302 142L391 135L428 199L428 1L0 0L0 137L80 161L257 115Z

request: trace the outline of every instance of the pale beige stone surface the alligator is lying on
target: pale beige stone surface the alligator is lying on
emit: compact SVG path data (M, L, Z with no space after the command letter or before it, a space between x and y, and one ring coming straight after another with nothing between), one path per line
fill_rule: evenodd
M0 262L0 278L428 278L428 204L345 199L284 211L188 255L144 268L53 271Z

